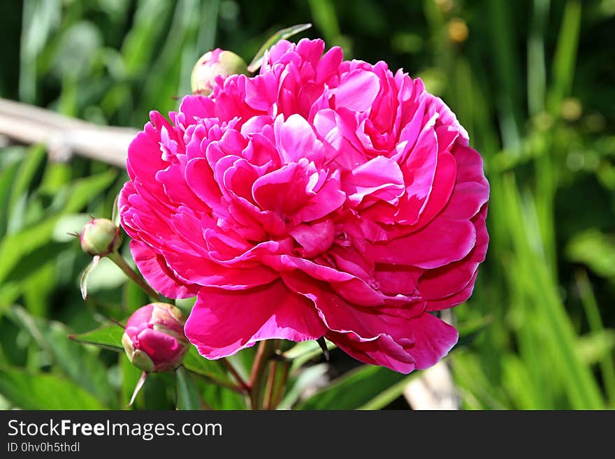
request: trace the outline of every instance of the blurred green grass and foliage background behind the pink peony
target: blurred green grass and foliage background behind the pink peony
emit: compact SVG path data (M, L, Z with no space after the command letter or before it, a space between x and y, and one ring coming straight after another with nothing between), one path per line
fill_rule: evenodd
M314 27L294 40L423 78L484 157L491 244L446 359L461 407L615 409L614 0L6 0L0 96L140 129L150 110L177 108L204 52L249 61L303 22ZM139 372L66 338L145 301L103 263L84 302L89 259L66 235L87 214L109 217L125 171L3 144L0 407L125 407ZM407 408L420 376L310 356L283 407ZM173 384L152 378L137 406L173 407ZM245 406L197 384L214 407Z

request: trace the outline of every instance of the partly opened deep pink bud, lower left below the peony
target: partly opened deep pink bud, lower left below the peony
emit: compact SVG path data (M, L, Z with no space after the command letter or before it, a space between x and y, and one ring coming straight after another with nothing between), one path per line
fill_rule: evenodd
M166 303L137 309L122 335L131 363L145 372L166 372L180 366L190 344L184 335L184 322L180 309Z

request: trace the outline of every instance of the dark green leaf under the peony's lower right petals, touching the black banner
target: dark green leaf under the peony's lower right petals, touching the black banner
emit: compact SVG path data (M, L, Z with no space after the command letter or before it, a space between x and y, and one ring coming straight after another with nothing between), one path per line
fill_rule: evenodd
M362 365L299 405L300 409L357 409L407 376L388 368Z

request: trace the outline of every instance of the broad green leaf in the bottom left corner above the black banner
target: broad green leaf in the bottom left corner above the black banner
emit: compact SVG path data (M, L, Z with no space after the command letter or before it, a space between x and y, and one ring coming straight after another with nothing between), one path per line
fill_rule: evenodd
M22 409L108 409L69 379L11 367L0 367L0 393Z

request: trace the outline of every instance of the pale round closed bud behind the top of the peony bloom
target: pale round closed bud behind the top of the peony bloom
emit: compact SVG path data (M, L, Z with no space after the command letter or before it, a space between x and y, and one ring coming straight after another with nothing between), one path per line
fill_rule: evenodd
M238 73L247 73L247 64L234 52L220 48L205 52L192 69L190 77L192 92L201 96L209 96L213 91L217 75L226 78Z

